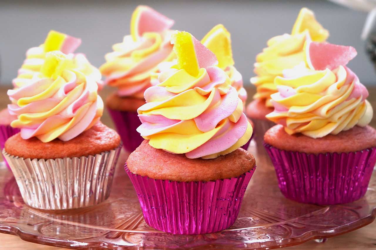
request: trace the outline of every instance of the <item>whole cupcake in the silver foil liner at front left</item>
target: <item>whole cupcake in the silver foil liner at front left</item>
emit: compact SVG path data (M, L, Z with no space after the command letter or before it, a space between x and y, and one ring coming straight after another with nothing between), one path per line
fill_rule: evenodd
M50 33L38 47L39 70L20 72L8 90L9 113L17 115L11 126L20 133L5 142L3 155L24 202L38 209L82 208L105 200L121 149L118 134L99 121L99 70L83 54L59 50L64 40Z

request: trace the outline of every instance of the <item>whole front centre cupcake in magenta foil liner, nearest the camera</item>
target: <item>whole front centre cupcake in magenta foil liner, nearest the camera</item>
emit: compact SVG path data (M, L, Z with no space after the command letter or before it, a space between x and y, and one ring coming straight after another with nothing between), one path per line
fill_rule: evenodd
M188 32L171 37L177 63L162 71L138 108L144 142L126 171L149 226L213 233L236 220L255 159L243 102L215 55Z

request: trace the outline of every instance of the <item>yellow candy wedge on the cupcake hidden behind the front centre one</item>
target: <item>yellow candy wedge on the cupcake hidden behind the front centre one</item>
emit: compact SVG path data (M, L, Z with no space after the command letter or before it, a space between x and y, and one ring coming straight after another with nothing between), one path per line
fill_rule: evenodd
M222 24L213 27L201 40L206 48L211 50L218 59L221 69L234 65L232 59L230 32Z

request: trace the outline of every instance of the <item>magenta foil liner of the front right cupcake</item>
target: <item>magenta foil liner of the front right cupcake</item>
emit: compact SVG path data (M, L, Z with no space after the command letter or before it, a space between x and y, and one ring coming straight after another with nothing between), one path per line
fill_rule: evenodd
M364 196L376 162L376 148L350 153L305 154L264 143L285 197L302 203L334 205Z

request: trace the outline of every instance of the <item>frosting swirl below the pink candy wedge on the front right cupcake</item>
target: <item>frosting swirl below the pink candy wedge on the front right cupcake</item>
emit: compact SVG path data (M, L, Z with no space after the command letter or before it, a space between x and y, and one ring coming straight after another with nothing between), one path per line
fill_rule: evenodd
M271 95L274 111L266 117L284 125L288 134L319 138L355 125L364 127L372 119L368 91L346 66L314 70L302 63L274 83L278 90Z

